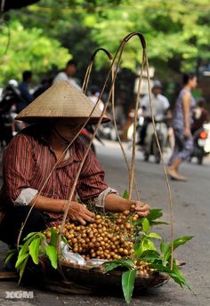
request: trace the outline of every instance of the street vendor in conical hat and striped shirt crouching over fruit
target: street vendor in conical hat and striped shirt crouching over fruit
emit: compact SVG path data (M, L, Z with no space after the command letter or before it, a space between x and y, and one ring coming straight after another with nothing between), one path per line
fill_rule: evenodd
M20 112L17 119L29 125L12 139L4 151L0 240L8 245L16 244L21 224L34 203L22 238L29 232L61 223L87 147L78 136L65 156L63 152L92 110L93 102L85 94L62 81L52 85ZM101 110L96 108L90 123L97 123L100 116ZM102 119L103 122L108 120L108 117ZM76 191L69 206L69 221L84 225L94 221L94 213L76 201L77 195L82 203L92 201L101 210L122 212L134 204L140 216L149 214L149 205L119 197L117 191L105 183L104 172L92 150L85 159Z

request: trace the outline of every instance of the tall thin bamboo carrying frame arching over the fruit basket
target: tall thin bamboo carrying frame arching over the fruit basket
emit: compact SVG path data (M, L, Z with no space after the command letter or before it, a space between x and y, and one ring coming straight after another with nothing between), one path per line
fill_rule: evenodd
M65 225L65 221L67 219L67 216L68 216L68 212L69 212L69 206L70 206L70 203L71 203L71 200L72 200L72 197L75 193L75 190L76 190L76 187L77 187L77 181L78 181L78 178L79 178L79 175L81 173L81 170L83 168L83 165L85 163L85 159L86 157L88 156L88 152L91 148L91 145L93 143L93 139L101 125L101 121L102 121L102 117L104 116L105 112L106 112L106 109L108 107L108 104L109 104L109 100L110 100L110 97L111 97L111 94L113 94L113 88L114 88L114 84L115 84L115 81L116 81L116 77L117 77L117 70L119 68L119 64L120 64L120 60L121 60L121 57L122 57L122 54L124 52L124 49L125 49L125 44L133 37L133 36L138 36L140 38L140 41L141 41L141 46L142 46L142 49L143 49L143 57L142 57L142 65L141 65L141 75L140 75L140 80L139 80L139 85L138 85L138 93L137 93L137 98L136 98L136 101L135 101L135 115L134 115L134 131L133 131L133 154L132 154L132 164L131 164L131 168L130 168L130 175L129 175L129 198L132 197L132 190L133 190L133 180L134 180L134 158L135 158L135 128L136 128L136 120L137 120L137 111L138 111L138 101L139 101L139 97L140 97L140 91L141 91L141 78L142 78L142 71L143 71L143 65L144 65L144 60L146 60L146 68L147 68L147 78L148 78L148 85L149 85L149 108L150 108L150 111L151 111L151 117L152 117L152 124L153 124L153 128L154 128L154 133L155 133L155 136L156 136L156 140L157 140L157 143L158 143L158 149L160 151L160 156L162 158L162 161L163 161L163 165L164 165L164 171L165 171L165 175L166 175L166 186L167 186L167 189L168 189L168 194L169 194L169 201L170 201L170 213L171 213L171 240L173 241L173 237L174 237L174 211L173 211L173 201L172 201L172 196L171 196L171 189L170 189L170 184L169 184L169 181L168 181L168 177L167 177L167 173L166 173L166 165L165 165L165 162L164 162L164 159L163 159L163 154L162 154L162 151L161 151L161 148L160 148L160 145L159 145L159 142L158 142L158 135L157 135L157 132L156 132L156 128L155 128L155 120L154 120L154 114L153 114L153 109L152 109L152 101L151 101L151 94L150 94L150 84L149 84L149 62L148 62L148 58L147 58L147 53L146 53L146 42L145 42L145 39L144 39L144 36L142 36L142 34L140 32L133 32L131 34L129 34L128 36L125 36L125 38L123 39L123 41L121 42L121 44L119 45L118 49L117 49L117 52L113 58L113 60L111 61L111 65L109 67L109 72L106 76L106 80L105 80L105 83L103 85L103 88L101 90L101 93L100 93L100 96L98 98L98 101L96 102L95 106L93 107L93 111L94 109L98 106L100 100L101 100L101 96L102 94L104 93L104 90L105 90L105 87L108 83L108 80L109 80L109 75L110 73L112 72L112 82L111 82L111 86L110 86L110 89L109 89L109 94L108 94L108 99L107 101L105 102L105 105L104 105L104 109L103 111L101 112L101 117L98 121L98 124L96 125L96 128L94 130L94 133L93 133L93 138L92 140L90 141L88 147L87 147L87 150L85 152L85 156L83 158L83 161L81 162L81 165L79 167L79 170L77 172L77 176L76 176L76 179L74 181L74 184L73 184L73 187L71 189L71 192L70 192L70 195L69 195L69 200L68 200L68 204L66 205L66 209L65 209L65 212L63 214L63 219L61 221L61 228L60 228L60 232L59 232L59 238L58 238L58 241L57 241L57 253L58 253L58 261L59 261L59 267L60 267L60 270L61 270L61 265L60 265L60 254L61 254L61 233L62 233L62 230L64 228L64 225ZM116 65L116 71L113 70L114 68L114 63L115 63L115 60L117 60L117 65ZM83 89L86 91L86 88L87 88L87 84L88 84L88 81L89 81L89 77L90 77L90 74L91 74L91 70L92 70L92 66L93 66L93 60L89 66L89 68L87 68L87 71L86 71L86 74L85 74L85 82L84 82L84 86L83 86ZM113 72L114 71L114 72ZM113 98L112 98L112 101L113 101ZM91 118L92 114L93 114L93 111L91 112L90 116L87 118L85 124L83 125L83 127L81 128L81 130L85 127L85 125L88 123L89 119ZM79 133L81 132L81 130L79 131ZM76 135L76 137L73 139L73 141L75 141L75 139L77 138L78 134ZM63 154L61 155L61 157L59 158L59 160L57 161L57 163L52 167L52 171L51 173L49 173L46 181L44 182L44 186L45 184L47 183L47 181L49 180L50 176L52 175L52 172L54 171L54 169L56 168L56 166L59 164L59 162L61 161L61 158L63 158L67 152L67 150L69 149L70 145L72 144L71 141L69 143L69 145L67 146L67 148L64 150ZM42 190L44 189L44 186L43 188L39 191L37 197L41 194ZM36 199L37 199L36 197ZM36 200L34 201L33 205L31 206L29 212L28 212L28 216L29 216L29 213L31 212L31 210L33 209L34 205L36 204ZM22 234L22 230L24 229L24 226L26 224L26 221L28 220L28 216L26 218L26 220L24 221L24 223L22 224L21 226L21 229L20 229L20 234L19 234L19 238L18 238L18 248L19 248L19 244L20 244L20 237L21 237L21 234ZM172 244L172 265L171 265L171 268L173 268L173 253L174 253L174 246ZM61 273L62 273L62 270L61 270ZM63 275L63 273L62 273Z

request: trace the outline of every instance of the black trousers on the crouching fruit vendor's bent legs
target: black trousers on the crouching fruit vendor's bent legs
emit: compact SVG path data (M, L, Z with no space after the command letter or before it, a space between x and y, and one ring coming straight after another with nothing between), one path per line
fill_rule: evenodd
M0 240L12 246L17 244L21 225L25 221L29 209L29 206L11 206L8 209L7 213L4 215L3 221L0 223ZM44 229L46 229L44 213L33 208L22 231L20 241L22 241L28 233Z

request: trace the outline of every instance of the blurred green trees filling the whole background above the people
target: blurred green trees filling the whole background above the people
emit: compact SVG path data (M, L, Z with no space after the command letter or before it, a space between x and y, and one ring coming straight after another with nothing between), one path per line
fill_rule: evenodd
M33 71L33 92L44 78L53 79L70 59L77 61L81 85L93 51L104 47L113 54L132 31L146 38L150 77L164 85L173 106L181 74L198 76L197 98L210 105L210 4L208 0L1 0L0 88ZM99 54L91 85L101 88L109 62ZM126 45L117 76L117 104L125 120L133 108L135 81L141 68L138 39Z

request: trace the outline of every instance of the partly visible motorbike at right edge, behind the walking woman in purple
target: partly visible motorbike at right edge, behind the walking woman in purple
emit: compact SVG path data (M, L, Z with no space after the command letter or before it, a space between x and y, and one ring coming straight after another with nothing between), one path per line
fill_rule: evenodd
M192 157L197 157L198 165L203 164L203 159L210 153L210 123L193 133L194 150Z

